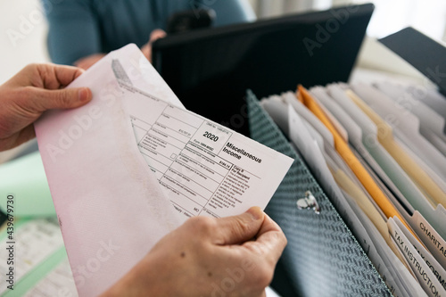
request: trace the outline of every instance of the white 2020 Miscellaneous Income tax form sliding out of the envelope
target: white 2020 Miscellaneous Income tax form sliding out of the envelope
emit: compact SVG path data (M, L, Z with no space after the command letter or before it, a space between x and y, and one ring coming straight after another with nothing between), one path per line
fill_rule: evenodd
M180 218L267 206L276 190L270 185L280 183L291 158L133 86L119 60L111 66L138 149Z

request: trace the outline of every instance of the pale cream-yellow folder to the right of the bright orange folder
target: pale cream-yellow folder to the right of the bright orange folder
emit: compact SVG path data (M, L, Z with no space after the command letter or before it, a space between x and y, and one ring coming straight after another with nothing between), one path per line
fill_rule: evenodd
M373 111L367 103L362 101L358 95L351 90L346 91L351 100L358 105L358 107L368 115L370 120L375 122L378 127L378 141L382 144L385 150L392 155L392 158L400 164L409 177L411 177L420 187L425 194L428 194L430 198L435 202L434 208L438 203L446 207L446 194L442 191L434 180L427 175L416 161L410 158L409 154L404 151L399 144L393 139L392 127L385 122L375 111Z

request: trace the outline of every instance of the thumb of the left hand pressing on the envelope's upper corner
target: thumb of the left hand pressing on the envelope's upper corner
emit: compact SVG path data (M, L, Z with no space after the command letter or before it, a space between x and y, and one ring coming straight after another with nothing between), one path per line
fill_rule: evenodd
M69 109L82 106L92 99L91 90L87 87L46 90L37 88L32 98L37 111L52 109Z

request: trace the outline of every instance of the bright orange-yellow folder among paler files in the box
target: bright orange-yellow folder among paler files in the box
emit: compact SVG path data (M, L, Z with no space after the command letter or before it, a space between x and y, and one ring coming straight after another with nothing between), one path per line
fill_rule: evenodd
M301 85L299 85L298 91L298 99L303 104L305 104L305 106L307 106L307 108L311 112L313 112L314 115L316 115L318 119L322 121L322 123L324 123L324 125L326 125L326 128L330 130L333 137L335 138L336 151L341 155L343 160L351 168L355 176L358 177L360 183L366 188L368 193L375 200L376 204L381 208L381 210L383 210L385 216L387 218L391 218L394 216L398 217L398 219L401 219L401 221L404 222L404 225L408 227L409 230L411 230L409 225L402 218L401 213L395 209L395 207L392 205L392 202L389 201L389 199L385 196L383 191L381 191L379 186L376 185L373 178L370 177L370 175L368 174L368 171L362 166L354 153L351 152L349 145L337 133L331 122L326 118L324 111L320 109L318 103L316 103L309 92Z

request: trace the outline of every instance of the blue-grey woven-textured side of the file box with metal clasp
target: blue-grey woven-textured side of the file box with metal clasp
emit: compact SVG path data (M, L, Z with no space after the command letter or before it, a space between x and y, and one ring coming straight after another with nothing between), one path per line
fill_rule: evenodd
M294 159L266 212L285 232L288 245L272 286L282 296L391 296L349 228L288 140L248 91L252 139ZM320 213L299 210L310 191Z

